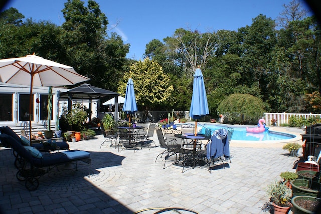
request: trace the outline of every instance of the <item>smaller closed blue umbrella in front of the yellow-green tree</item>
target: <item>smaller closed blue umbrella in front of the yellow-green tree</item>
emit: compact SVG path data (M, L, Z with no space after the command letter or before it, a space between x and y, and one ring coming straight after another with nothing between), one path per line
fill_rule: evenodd
M129 78L127 82L125 101L124 101L124 106L122 107L122 110L129 115L138 111L135 91L134 91L134 82L132 81L131 78ZM130 124L130 117L129 117L129 124Z

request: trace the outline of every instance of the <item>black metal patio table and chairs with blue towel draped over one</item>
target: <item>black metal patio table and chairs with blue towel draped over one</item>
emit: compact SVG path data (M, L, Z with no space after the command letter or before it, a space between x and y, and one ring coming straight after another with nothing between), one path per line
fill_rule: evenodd
M159 157L164 158L164 166L167 161L172 161L172 164L182 166L184 168L191 166L207 167L209 172L216 166L216 162L220 161L221 166L225 169L224 160L230 159L229 142L233 135L234 129L231 127L214 131L212 135L204 135L194 133L185 133L184 129L156 129L159 144L166 149L160 153Z

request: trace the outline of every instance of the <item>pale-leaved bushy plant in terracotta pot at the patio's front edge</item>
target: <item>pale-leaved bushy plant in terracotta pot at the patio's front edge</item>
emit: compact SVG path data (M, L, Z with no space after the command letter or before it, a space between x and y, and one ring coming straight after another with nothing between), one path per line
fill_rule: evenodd
M274 213L288 213L292 204L292 190L284 182L274 181L267 186L266 192L273 204Z

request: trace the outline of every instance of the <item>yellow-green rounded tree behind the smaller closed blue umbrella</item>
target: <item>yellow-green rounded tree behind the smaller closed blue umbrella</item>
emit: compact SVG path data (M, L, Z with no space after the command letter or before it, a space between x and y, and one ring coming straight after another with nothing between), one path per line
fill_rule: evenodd
M159 106L174 102L173 86L162 67L149 58L138 61L130 67L119 82L118 92L124 96L127 81L133 79L138 109L145 112L159 110Z

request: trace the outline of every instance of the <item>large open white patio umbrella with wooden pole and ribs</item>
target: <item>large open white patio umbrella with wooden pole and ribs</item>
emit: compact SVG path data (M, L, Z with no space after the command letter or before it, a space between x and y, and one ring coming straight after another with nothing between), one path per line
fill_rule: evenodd
M89 78L78 74L73 67L56 63L34 54L25 57L0 60L0 82L30 86L30 140L33 86L65 86L74 85L87 80L89 80Z

